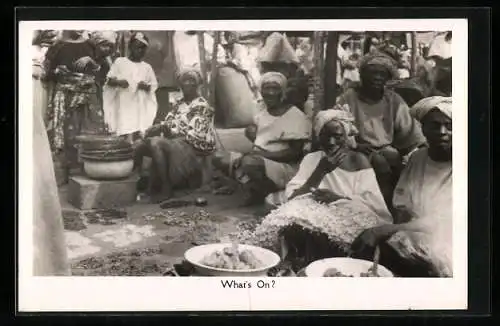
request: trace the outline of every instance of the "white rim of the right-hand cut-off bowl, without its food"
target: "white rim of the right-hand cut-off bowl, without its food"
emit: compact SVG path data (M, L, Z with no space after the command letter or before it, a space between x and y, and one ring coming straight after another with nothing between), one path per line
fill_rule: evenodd
M323 277L327 269L336 268L342 274L359 277L361 273L367 273L373 266L373 262L368 260L335 257L326 258L312 262L306 267L307 277ZM377 273L380 277L394 277L394 274L384 266L378 265Z

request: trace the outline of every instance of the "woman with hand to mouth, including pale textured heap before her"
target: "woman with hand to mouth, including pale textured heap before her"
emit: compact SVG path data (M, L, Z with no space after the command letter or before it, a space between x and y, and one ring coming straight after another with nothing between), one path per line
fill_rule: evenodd
M314 256L305 258L304 264L345 255L360 231L392 223L370 162L353 150L353 116L339 109L320 111L314 132L321 149L304 157L287 184L286 200L256 230L259 239L276 241L283 235L282 249L300 247L298 256ZM304 253L304 239L317 243L323 236L329 241Z

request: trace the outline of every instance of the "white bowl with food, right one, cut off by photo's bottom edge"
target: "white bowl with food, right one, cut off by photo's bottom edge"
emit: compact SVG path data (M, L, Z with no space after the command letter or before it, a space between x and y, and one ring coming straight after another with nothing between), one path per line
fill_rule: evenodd
M307 277L394 277L386 267L369 260L348 257L326 258L312 262L305 269Z

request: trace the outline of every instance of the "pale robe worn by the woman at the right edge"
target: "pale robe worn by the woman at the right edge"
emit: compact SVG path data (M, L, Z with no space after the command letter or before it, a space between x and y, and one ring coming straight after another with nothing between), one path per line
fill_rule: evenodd
M453 177L452 163L435 162L427 149L415 152L396 186L394 207L411 212L413 218L432 225L431 233L397 233L389 244L402 253L422 252L438 267L443 276L453 275ZM398 221L408 222L407 220ZM408 242L406 235L411 242Z

